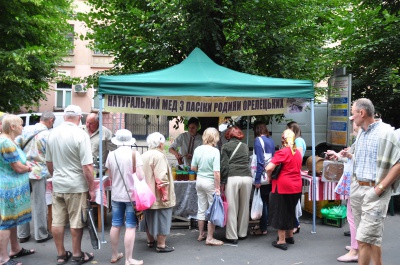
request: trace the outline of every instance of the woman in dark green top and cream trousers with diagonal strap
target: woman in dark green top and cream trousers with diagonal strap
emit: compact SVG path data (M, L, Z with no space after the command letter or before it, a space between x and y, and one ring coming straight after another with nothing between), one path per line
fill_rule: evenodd
M225 138L229 142L221 149L221 183L229 205L225 242L237 244L247 237L249 201L253 179L249 168L249 147L242 143L243 132L230 127Z

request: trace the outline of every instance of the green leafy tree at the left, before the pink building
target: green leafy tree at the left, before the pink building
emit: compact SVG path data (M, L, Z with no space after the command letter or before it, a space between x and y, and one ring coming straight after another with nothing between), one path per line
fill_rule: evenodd
M68 54L70 0L0 1L0 111L46 99L56 67Z

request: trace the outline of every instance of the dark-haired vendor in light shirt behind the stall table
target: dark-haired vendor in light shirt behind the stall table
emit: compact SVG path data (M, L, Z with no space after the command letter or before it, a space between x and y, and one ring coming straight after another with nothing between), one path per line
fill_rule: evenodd
M179 165L190 167L192 162L193 152L198 146L203 144L201 135L197 133L200 122L197 118L189 119L188 132L181 133L169 148L169 152L175 156ZM178 152L178 148L180 148Z

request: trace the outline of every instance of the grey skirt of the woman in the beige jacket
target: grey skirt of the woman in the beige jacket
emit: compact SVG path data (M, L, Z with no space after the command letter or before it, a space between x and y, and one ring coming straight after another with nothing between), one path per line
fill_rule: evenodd
M172 208L148 209L144 211L144 220L152 236L169 235L172 222Z

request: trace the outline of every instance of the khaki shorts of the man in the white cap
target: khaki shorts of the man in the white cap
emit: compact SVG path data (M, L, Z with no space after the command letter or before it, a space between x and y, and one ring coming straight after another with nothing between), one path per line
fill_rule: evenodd
M52 226L66 226L79 229L86 226L82 223L82 214L86 220L88 193L57 193L53 192Z

